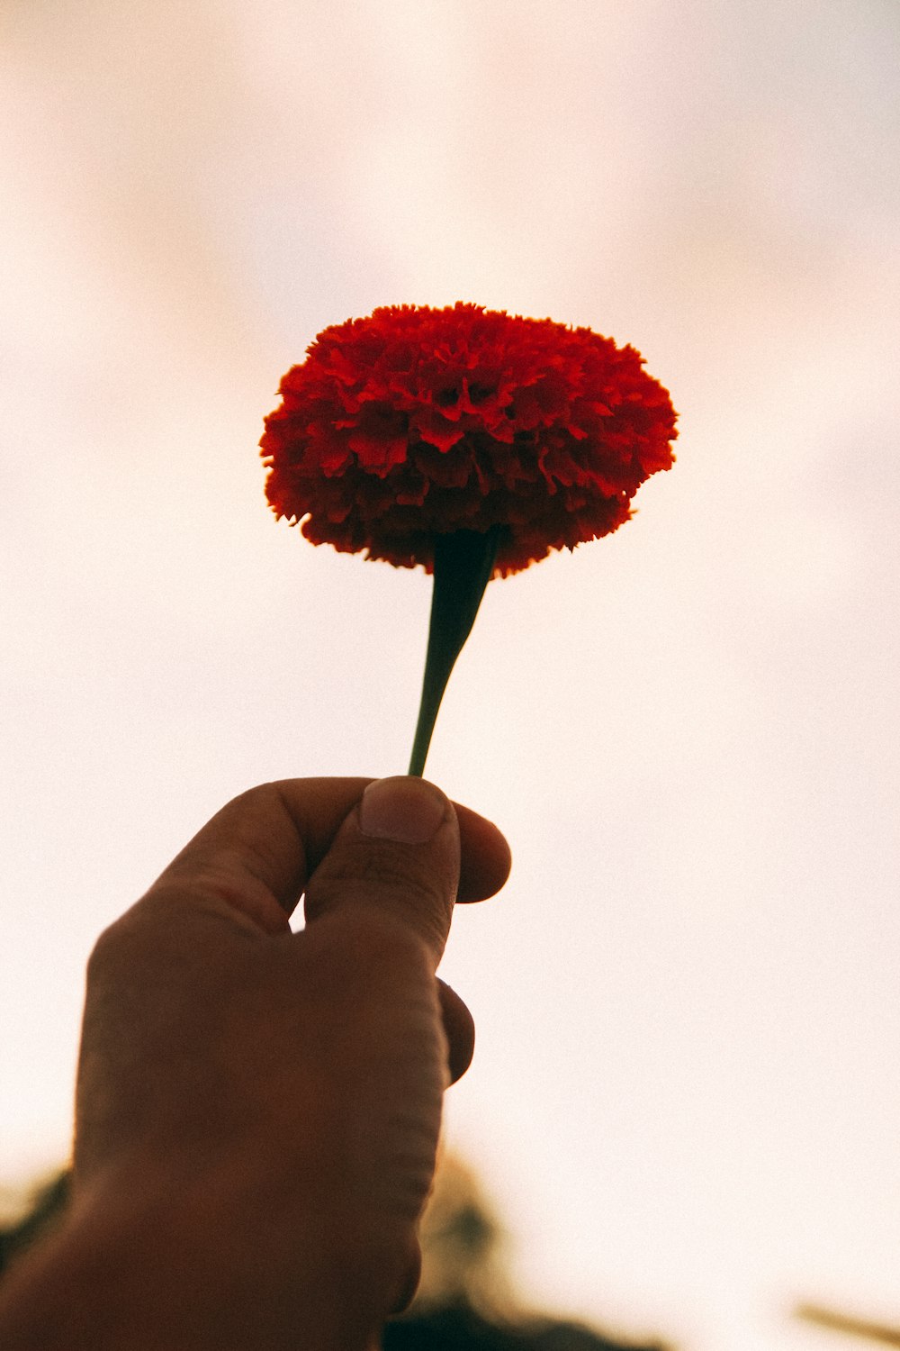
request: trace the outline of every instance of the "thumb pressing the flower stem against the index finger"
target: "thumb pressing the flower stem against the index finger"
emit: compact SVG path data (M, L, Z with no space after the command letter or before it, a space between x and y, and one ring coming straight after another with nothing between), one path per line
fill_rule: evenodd
M306 884L306 923L375 909L422 939L437 966L459 869L459 825L444 793L421 778L376 780Z

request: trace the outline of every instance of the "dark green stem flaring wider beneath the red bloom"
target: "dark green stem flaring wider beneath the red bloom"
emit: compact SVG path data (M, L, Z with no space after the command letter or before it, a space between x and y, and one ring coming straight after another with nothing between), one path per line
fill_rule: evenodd
M407 771L420 778L425 771L428 747L447 682L472 631L484 588L494 571L499 531L499 526L486 532L457 530L434 539L434 589L425 678Z

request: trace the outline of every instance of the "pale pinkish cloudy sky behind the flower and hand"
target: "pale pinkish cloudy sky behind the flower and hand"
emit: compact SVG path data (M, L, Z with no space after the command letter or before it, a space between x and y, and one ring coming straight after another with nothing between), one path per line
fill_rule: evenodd
M421 571L263 499L327 324L645 354L679 462L488 588L429 777L507 834L447 1140L529 1306L685 1351L900 1324L900 5L0 0L0 1182L85 958L227 798L406 766Z

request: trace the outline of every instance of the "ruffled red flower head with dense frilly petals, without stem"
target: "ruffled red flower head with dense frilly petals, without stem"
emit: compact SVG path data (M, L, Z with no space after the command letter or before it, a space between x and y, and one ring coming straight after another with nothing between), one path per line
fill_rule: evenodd
M260 442L275 513L428 571L436 535L499 527L506 576L610 534L677 435L633 347L461 303L327 328L279 392Z

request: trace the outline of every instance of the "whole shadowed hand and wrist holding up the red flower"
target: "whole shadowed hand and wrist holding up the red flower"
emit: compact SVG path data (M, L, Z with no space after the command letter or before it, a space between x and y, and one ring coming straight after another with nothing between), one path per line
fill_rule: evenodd
M510 854L433 785L370 782L235 798L99 939L74 1200L4 1282L1 1351L366 1351L412 1297L474 1046L434 971Z

